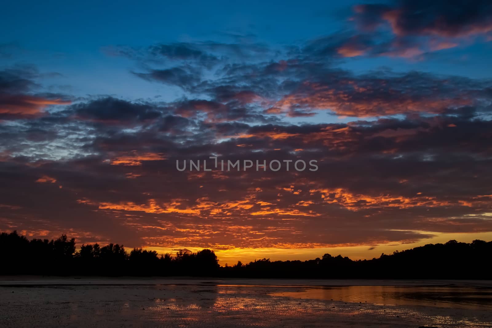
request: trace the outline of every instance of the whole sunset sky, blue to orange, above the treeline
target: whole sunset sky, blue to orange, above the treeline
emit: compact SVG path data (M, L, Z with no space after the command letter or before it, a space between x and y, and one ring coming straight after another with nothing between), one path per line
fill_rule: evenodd
M0 231L221 265L492 240L490 1L9 2L0 28Z

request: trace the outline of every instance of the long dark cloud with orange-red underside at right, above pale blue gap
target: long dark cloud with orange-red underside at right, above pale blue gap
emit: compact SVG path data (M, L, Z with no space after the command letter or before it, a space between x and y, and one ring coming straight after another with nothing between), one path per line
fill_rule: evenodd
M478 106L489 111L490 81L426 73L371 72L352 76L348 72L321 71L300 83L278 100L270 113L299 110L331 110L337 115L369 117L409 113L444 113ZM478 82L480 84L480 82Z

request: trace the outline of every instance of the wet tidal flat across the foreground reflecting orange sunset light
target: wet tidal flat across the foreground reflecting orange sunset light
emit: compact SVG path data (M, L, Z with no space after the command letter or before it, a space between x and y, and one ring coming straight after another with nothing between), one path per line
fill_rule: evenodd
M492 327L492 282L0 279L0 327Z

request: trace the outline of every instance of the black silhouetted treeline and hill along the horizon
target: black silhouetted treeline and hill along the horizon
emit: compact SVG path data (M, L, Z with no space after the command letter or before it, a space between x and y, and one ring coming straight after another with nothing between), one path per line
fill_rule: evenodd
M434 278L491 279L492 241L450 240L427 244L372 260L323 255L307 261L256 260L220 267L214 251L179 251L175 255L123 245L83 244L62 235L59 239L32 239L16 231L0 234L0 274L216 276L237 278Z

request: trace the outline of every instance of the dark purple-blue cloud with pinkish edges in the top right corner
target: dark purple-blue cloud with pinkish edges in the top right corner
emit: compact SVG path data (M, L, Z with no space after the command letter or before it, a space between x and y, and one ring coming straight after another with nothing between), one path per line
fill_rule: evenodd
M310 48L341 57L388 56L422 59L431 52L487 38L490 1L395 0L354 6L351 32L314 41ZM316 45L320 42L321 45ZM307 49L312 50L312 49Z

